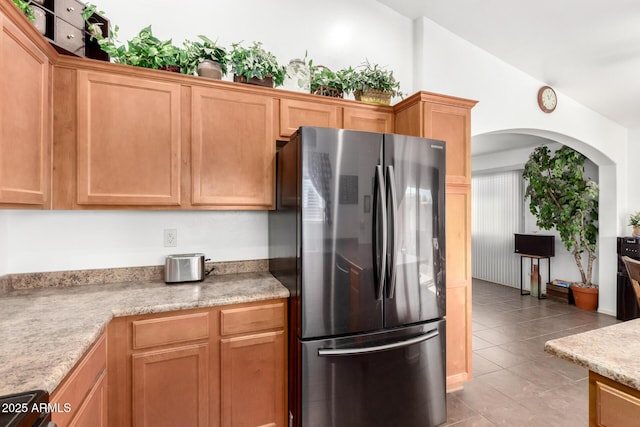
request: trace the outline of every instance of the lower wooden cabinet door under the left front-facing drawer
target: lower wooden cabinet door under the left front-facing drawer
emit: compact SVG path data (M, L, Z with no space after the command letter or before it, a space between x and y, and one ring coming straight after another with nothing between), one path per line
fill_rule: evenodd
M132 356L133 425L209 425L209 346L173 347Z

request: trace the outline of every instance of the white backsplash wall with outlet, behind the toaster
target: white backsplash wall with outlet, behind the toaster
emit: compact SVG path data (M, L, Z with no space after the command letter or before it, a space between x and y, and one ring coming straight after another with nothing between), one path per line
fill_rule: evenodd
M267 212L0 211L0 276L162 265L202 252L216 262L268 258ZM177 246L164 247L164 230Z

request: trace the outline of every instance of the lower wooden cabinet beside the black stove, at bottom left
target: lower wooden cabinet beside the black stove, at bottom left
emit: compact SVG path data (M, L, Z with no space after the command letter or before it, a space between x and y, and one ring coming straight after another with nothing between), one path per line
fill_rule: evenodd
M107 340L103 335L51 394L58 427L107 426Z

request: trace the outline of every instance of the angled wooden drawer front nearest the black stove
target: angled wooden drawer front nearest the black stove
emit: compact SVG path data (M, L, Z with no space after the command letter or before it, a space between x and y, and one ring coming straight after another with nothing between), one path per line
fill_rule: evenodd
M57 403L62 409L71 409L69 412L60 410L53 414L53 421L58 426L69 424L93 386L104 376L106 367L107 342L103 334L51 395L52 403Z

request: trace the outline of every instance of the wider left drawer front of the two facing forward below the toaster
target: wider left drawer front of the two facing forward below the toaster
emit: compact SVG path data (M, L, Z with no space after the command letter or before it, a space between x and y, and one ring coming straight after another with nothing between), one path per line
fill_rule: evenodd
M195 341L209 337L209 313L134 320L133 349Z

